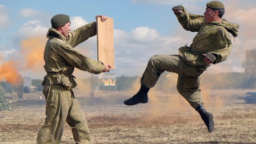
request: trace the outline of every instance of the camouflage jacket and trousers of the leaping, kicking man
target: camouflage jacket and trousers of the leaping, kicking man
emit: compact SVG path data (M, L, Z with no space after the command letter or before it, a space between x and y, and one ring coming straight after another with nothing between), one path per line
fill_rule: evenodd
M222 23L206 23L204 16L188 14L183 7L181 14L176 14L184 29L198 32L190 47L180 47L179 55L156 55L150 58L141 77L141 85L152 88L164 71L178 74L178 92L196 108L203 104L199 88L201 74L210 65L204 61L202 54L214 54L219 63L228 58L232 43L228 32L237 36L239 25L222 20Z

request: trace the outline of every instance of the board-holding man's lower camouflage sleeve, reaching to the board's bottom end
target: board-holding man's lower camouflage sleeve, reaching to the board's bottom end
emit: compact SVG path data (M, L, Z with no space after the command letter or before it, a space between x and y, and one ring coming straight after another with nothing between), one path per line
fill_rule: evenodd
M83 56L79 50L70 47L67 43L61 45L52 43L52 49L62 56L70 65L80 70L93 74L100 74L102 70L104 70L104 63Z

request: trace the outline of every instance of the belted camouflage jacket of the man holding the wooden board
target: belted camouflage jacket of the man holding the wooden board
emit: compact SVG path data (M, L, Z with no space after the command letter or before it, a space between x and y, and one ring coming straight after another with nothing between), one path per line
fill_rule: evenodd
M95 22L70 31L67 38L56 29L50 28L46 35L48 41L44 52L44 68L47 75L42 85L61 84L69 90L74 88L77 85L72 75L74 67L93 74L101 73L104 63L83 56L79 50L74 48L96 34Z

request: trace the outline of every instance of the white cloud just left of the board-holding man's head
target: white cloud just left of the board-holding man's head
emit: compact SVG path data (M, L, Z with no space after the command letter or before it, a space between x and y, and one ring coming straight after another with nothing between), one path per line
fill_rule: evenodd
M24 25L15 34L20 39L26 39L33 36L45 36L48 27L42 25L43 22L39 20L32 20L24 23Z

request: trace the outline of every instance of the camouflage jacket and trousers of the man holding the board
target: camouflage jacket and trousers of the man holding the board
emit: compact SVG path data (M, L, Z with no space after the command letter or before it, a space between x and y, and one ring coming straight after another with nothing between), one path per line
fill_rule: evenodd
M74 67L93 74L100 74L104 70L104 63L83 56L73 48L95 35L95 22L70 31L67 38L56 29L49 29L44 52L47 75L42 83L46 119L39 131L37 144L59 144L65 122L72 127L76 144L91 143L87 122L72 91L77 85L72 73Z

